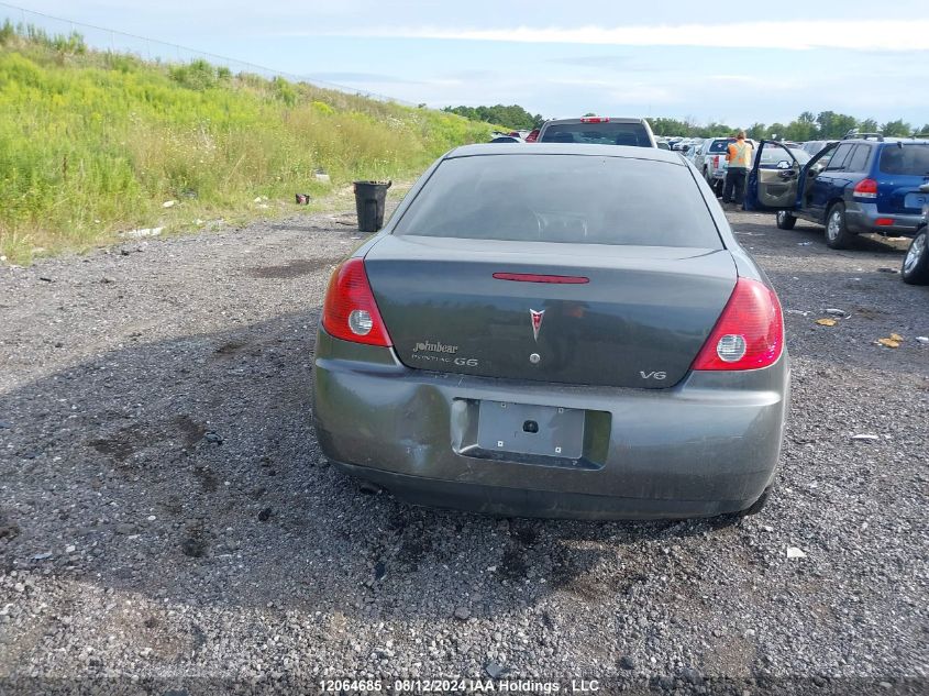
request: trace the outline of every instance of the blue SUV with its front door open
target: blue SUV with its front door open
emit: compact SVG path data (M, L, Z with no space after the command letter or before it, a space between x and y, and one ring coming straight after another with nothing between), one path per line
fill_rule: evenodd
M776 166L760 167L770 148L777 153ZM749 173L745 210L776 210L782 230L792 230L797 219L822 224L826 243L845 248L862 232L914 236L925 224L929 195L920 186L927 183L929 140L842 140L806 164L782 143L762 141Z

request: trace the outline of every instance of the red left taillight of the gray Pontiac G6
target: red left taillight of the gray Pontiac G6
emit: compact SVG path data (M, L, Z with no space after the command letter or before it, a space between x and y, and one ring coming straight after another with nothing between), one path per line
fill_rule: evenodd
M332 273L322 306L322 325L327 333L343 341L391 345L374 301L364 259L350 258Z

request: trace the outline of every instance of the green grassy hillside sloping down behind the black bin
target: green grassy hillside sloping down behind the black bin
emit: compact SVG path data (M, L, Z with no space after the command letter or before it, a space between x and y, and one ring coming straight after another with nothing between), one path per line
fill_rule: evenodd
M412 177L489 130L455 114L202 62L169 66L98 53L79 36L7 24L0 255L23 263L137 227L273 214L297 191L322 195L318 169L335 187Z

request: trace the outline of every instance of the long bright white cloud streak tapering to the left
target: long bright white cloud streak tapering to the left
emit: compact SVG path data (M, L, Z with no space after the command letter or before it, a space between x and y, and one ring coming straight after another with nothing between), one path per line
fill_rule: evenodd
M719 24L628 25L508 29L381 27L339 35L402 38L454 38L518 43L623 46L705 46L715 48L847 48L851 51L929 51L929 20L814 20Z

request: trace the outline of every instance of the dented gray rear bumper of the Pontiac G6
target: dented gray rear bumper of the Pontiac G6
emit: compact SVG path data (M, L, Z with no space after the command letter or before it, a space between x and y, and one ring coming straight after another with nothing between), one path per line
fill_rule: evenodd
M413 502L530 517L682 518L749 507L774 477L788 358L693 373L670 389L510 382L410 369L389 349L320 331L314 421L323 453ZM587 466L468 454L482 400L608 415Z

